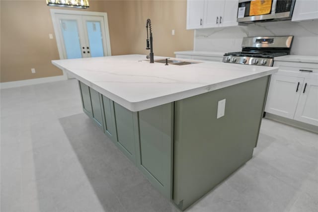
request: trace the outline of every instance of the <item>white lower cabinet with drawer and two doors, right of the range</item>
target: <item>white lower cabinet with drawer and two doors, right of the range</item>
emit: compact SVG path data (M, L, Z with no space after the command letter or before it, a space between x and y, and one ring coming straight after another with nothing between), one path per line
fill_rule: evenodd
M271 77L265 112L318 126L317 64L274 66L280 69Z

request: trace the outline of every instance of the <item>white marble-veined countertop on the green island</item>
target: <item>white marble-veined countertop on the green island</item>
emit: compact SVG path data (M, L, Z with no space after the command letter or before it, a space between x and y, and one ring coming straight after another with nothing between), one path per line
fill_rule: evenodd
M145 55L122 55L56 60L52 64L131 111L206 93L278 70L276 67L203 61L165 66L150 64L145 59Z

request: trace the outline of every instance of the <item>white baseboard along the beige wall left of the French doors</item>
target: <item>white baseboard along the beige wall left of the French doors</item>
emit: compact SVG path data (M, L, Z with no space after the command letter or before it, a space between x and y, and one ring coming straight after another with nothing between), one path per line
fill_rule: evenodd
M11 82L1 82L0 89L20 87L20 86L33 85L33 84L41 84L41 83L54 82L54 81L60 81L60 80L66 80L66 79L68 79L66 75L59 75L59 76L50 76L50 77L42 77L42 78L35 78L35 79L11 81Z

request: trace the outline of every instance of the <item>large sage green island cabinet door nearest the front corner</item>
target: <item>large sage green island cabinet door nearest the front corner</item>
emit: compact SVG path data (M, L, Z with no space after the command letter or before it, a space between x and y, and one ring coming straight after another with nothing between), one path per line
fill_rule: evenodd
M137 166L168 199L172 198L173 102L138 112Z

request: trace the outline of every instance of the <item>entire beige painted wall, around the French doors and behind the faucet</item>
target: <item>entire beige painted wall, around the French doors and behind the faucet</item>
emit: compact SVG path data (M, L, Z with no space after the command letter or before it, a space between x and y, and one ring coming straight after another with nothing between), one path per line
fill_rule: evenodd
M107 12L112 55L148 54L146 20L151 18L155 55L193 48L193 31L185 30L184 0L90 0L85 11ZM0 81L61 75L51 64L59 54L50 8L45 0L0 0ZM175 29L175 36L171 30ZM36 73L31 73L31 68Z

